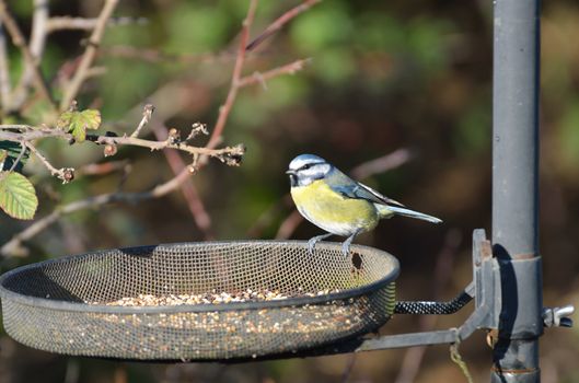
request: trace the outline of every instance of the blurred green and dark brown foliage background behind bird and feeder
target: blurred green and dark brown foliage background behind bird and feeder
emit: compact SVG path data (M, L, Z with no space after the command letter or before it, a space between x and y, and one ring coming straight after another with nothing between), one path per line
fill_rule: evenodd
M28 31L32 1L9 3ZM252 36L296 4L262 1ZM55 0L50 12L96 16L101 7L100 1ZM79 104L100 108L105 125L117 131L131 131L146 103L153 103L155 118L170 127L187 129L202 121L211 128L228 91L246 9L247 2L239 0L123 1L116 15L146 22L107 30L99 57L106 72L84 88ZM579 3L545 2L542 21L544 301L579 306ZM403 148L413 154L410 161L364 182L444 224L395 218L358 242L401 259L401 299L452 297L471 280L473 229L490 230L491 25L491 1L482 0L334 0L294 19L248 56L244 73L298 58L312 61L294 76L243 89L224 131L225 144L246 144L242 166L211 162L193 177L211 218L211 236L274 237L293 209L283 199L289 190L283 171L299 153L317 153L347 171ZM44 72L57 78L67 61L82 54L85 37L81 32L51 35ZM152 58L143 56L149 50ZM18 72L19 53L10 54L11 70ZM112 161L102 158L102 148L86 144L45 142L43 149L62 166ZM162 153L124 149L113 158L119 159L130 159L128 190L147 189L173 175ZM39 169L34 161L27 164L40 194L37 217L58 204L112 192L121 177L85 176L60 185ZM2 243L26 225L5 216L0 224ZM292 237L316 233L304 222ZM205 239L182 194L173 193L138 206L67 216L28 243L31 256L4 259L2 271L97 248ZM468 310L426 325L459 325ZM398 316L382 333L420 326L424 318ZM548 329L542 338L544 382L579 381L577 328ZM355 360L337 356L227 367L124 363L35 351L5 334L0 348L0 381L5 382L402 382L401 371L407 373L408 360L417 358L391 350ZM475 380L487 381L491 352L484 334L465 341L462 351ZM430 347L415 381L463 379L447 347Z

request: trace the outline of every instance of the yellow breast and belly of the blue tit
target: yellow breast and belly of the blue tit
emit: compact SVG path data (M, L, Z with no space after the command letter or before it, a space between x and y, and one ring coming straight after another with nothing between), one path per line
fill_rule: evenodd
M308 186L292 187L291 197L305 219L336 235L372 230L379 221L373 204L346 198L320 179Z

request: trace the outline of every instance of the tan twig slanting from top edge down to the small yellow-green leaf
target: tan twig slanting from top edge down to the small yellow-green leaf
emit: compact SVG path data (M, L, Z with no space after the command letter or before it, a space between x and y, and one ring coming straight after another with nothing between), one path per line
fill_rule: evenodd
M84 83L84 80L86 79L86 71L90 69L94 58L96 57L96 51L99 49L99 45L101 44L101 39L103 38L106 23L108 22L108 19L111 19L117 3L118 0L105 0L103 10L99 15L96 25L94 26L91 37L89 38L86 49L84 50L79 63L79 68L74 72L70 83L63 90L65 95L60 102L60 111L66 111L70 106L70 103L72 103L72 100L74 100L80 91L80 88Z

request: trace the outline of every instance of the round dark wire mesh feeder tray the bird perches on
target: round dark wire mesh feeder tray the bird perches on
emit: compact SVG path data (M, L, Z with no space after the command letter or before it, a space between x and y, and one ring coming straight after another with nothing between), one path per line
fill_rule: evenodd
M373 332L394 310L398 262L320 243L181 243L100 251L0 278L15 340L46 351L139 360L223 360L299 352ZM278 291L283 299L124 306L140 294ZM108 304L107 304L108 302Z

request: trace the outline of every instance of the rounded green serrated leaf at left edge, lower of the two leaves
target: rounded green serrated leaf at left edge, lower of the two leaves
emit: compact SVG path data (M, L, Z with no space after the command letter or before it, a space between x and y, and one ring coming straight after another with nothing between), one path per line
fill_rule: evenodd
M34 218L38 198L32 183L20 173L0 173L0 208L12 218Z

